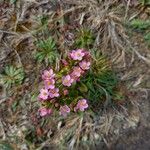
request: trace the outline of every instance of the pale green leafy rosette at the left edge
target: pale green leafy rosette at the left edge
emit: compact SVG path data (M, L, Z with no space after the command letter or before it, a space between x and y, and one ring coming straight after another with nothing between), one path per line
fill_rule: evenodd
M6 66L4 73L0 75L0 81L6 88L10 88L13 84L21 84L25 77L22 67Z

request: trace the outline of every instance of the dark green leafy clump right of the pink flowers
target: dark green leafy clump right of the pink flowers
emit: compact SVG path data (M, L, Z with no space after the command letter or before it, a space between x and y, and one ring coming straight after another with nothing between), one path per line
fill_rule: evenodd
M111 104L118 80L112 71L99 75L91 71L81 83L88 89L86 96L95 108L104 103Z

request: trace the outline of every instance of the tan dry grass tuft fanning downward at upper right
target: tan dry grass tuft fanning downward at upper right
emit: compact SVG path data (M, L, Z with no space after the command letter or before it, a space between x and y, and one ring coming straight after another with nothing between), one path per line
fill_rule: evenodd
M89 28L95 31L95 47L99 47L103 54L109 55L111 61L117 64L117 68L130 66L134 62L135 56L148 65L150 64L149 59L142 56L139 50L135 49L129 41L124 28L123 3L118 5L119 2L117 0L79 0L64 1L64 3L74 4L77 8L81 7L76 20L80 25L89 26ZM125 18L127 18L127 11Z

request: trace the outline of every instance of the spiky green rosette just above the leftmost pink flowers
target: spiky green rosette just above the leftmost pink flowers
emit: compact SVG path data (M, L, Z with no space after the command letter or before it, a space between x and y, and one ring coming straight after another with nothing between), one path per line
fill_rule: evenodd
M58 57L58 51L55 41L50 37L47 40L39 40L36 43L38 51L35 59L38 62L45 62L46 65L53 64Z

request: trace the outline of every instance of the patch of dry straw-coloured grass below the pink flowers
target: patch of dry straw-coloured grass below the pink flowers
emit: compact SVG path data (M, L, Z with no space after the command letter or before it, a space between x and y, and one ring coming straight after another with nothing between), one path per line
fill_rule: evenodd
M136 106L135 103L132 105L132 111L122 107L119 111L113 109L103 112L100 116L92 116L91 113L85 113L83 116L71 115L65 120L64 126L58 127L54 138L48 140L45 145L51 143L61 148L96 149L101 143L111 148L111 144L120 136L122 127L126 130L137 127L140 112Z

